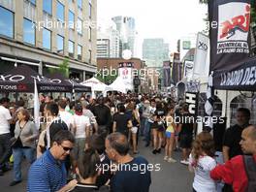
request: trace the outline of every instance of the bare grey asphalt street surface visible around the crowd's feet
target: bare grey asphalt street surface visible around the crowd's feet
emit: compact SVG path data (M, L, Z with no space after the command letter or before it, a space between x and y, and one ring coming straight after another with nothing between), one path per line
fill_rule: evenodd
M152 183L150 187L150 192L185 192L191 191L193 174L188 172L186 166L180 164L179 162L172 164L167 163L163 160L163 150L159 155L153 155L151 153L151 148L145 148L144 143L140 142L140 154L147 158L151 164L161 164L160 172L152 172ZM180 152L175 152L176 160L179 159ZM22 176L26 176L28 166L23 163ZM1 192L24 192L26 191L26 177L23 177L22 183L16 186L10 187L9 183L12 181L13 172L8 172L5 176L0 177Z

